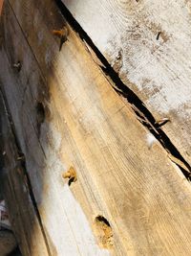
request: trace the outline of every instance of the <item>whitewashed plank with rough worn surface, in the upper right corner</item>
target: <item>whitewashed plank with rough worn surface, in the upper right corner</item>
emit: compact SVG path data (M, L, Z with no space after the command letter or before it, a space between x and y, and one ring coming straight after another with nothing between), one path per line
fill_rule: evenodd
M190 2L62 2L191 165Z

